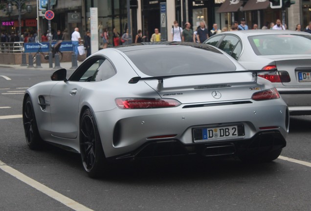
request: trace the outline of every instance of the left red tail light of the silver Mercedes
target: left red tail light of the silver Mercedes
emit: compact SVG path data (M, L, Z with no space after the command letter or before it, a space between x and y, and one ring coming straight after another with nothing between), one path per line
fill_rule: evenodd
M177 107L181 103L174 99L155 99L155 98L117 98L115 103L121 109L146 109L146 108L165 108Z

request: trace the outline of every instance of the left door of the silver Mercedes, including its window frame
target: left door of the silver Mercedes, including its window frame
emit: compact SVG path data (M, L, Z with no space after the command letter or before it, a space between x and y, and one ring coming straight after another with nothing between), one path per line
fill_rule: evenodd
M50 93L51 134L62 138L76 138L79 128L80 97L86 83L95 82L103 57L92 57L70 76L67 82L56 84Z

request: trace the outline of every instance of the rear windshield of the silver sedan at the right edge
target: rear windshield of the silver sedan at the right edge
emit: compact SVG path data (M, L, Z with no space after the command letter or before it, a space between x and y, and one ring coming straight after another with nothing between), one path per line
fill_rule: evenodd
M311 54L311 36L272 34L248 37L257 55Z

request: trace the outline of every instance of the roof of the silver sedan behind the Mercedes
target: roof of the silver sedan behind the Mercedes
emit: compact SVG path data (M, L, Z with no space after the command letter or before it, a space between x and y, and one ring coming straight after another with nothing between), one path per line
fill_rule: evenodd
M255 36L255 35L266 35L266 34L294 34L294 35L309 35L308 32L299 32L299 31L292 31L292 30L270 30L270 29L258 29L258 30L239 30L239 31L227 31L222 32L221 34L236 34L238 36Z

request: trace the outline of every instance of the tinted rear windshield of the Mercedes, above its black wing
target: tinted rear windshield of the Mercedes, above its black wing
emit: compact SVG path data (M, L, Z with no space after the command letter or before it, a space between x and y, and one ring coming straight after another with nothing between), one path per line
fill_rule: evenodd
M124 52L149 76L168 76L235 71L235 64L222 53L190 46L168 46Z

